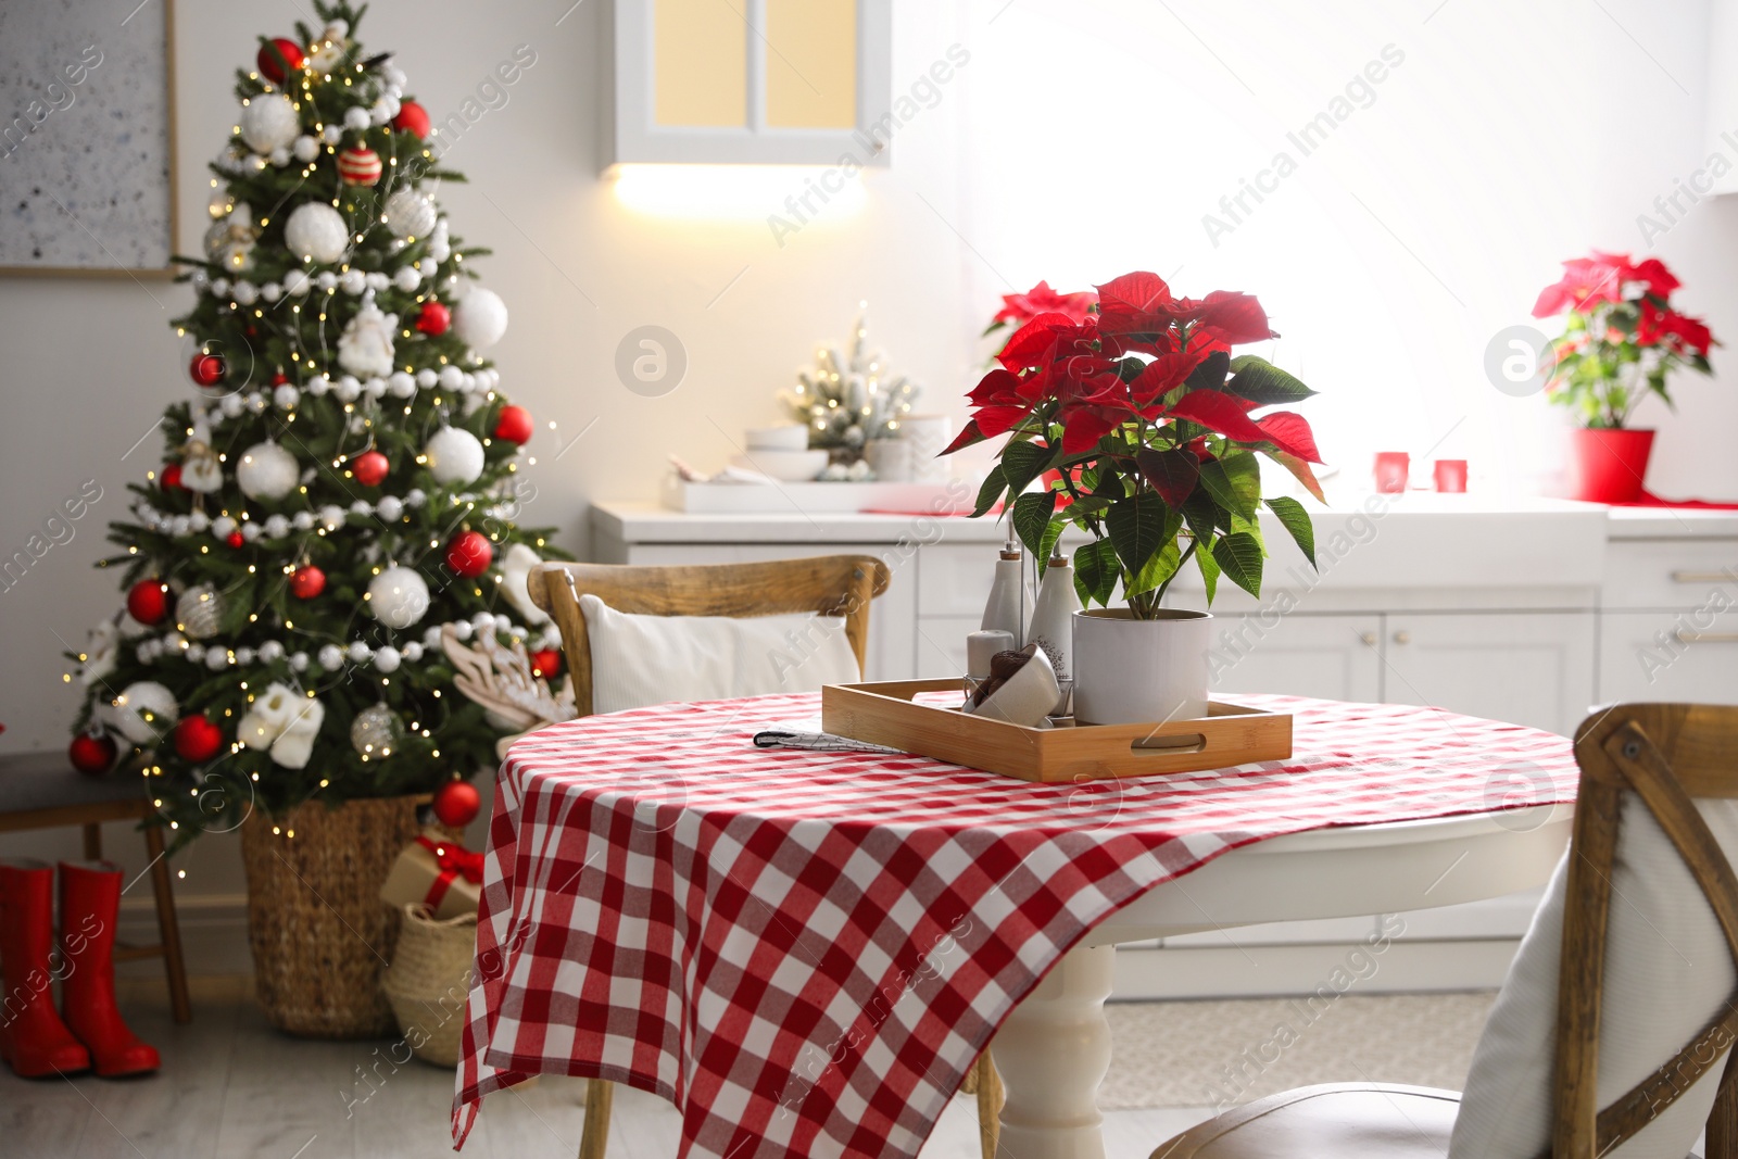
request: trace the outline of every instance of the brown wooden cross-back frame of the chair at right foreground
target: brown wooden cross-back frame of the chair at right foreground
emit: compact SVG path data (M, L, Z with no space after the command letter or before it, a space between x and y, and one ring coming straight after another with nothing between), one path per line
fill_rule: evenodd
M1597 1102L1599 1018L1618 815L1634 792L1702 888L1738 963L1738 876L1695 798L1738 798L1738 707L1620 704L1576 730L1575 806L1557 985L1554 1159L1604 1156L1648 1126L1726 1056L1708 1119L1708 1159L1738 1157L1738 996L1674 1058L1609 1107Z

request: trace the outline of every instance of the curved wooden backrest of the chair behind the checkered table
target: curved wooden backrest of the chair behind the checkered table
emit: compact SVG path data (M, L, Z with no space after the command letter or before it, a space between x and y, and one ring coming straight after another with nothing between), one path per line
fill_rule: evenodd
M542 563L532 568L532 601L561 629L574 702L591 716L591 641L580 596L598 596L634 615L843 615L845 638L862 672L869 648L869 601L886 591L890 573L874 556L813 556L766 563L634 566Z

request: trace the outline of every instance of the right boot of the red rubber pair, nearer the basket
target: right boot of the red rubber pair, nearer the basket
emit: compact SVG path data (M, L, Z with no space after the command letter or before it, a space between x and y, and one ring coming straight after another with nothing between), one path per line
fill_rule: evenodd
M156 1070L156 1048L141 1043L115 1006L115 923L120 917L120 865L61 862L61 1013L90 1048L97 1076Z

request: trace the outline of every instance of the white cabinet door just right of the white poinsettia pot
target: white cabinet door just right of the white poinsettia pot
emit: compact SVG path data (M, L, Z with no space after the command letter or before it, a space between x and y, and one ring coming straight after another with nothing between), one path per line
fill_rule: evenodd
M1380 615L1224 615L1213 632L1213 695L1279 692L1382 700Z

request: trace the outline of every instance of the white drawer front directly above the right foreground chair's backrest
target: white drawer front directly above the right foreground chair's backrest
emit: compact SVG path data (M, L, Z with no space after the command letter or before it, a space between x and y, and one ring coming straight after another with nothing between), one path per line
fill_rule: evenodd
M1738 612L1604 612L1599 700L1738 704Z

